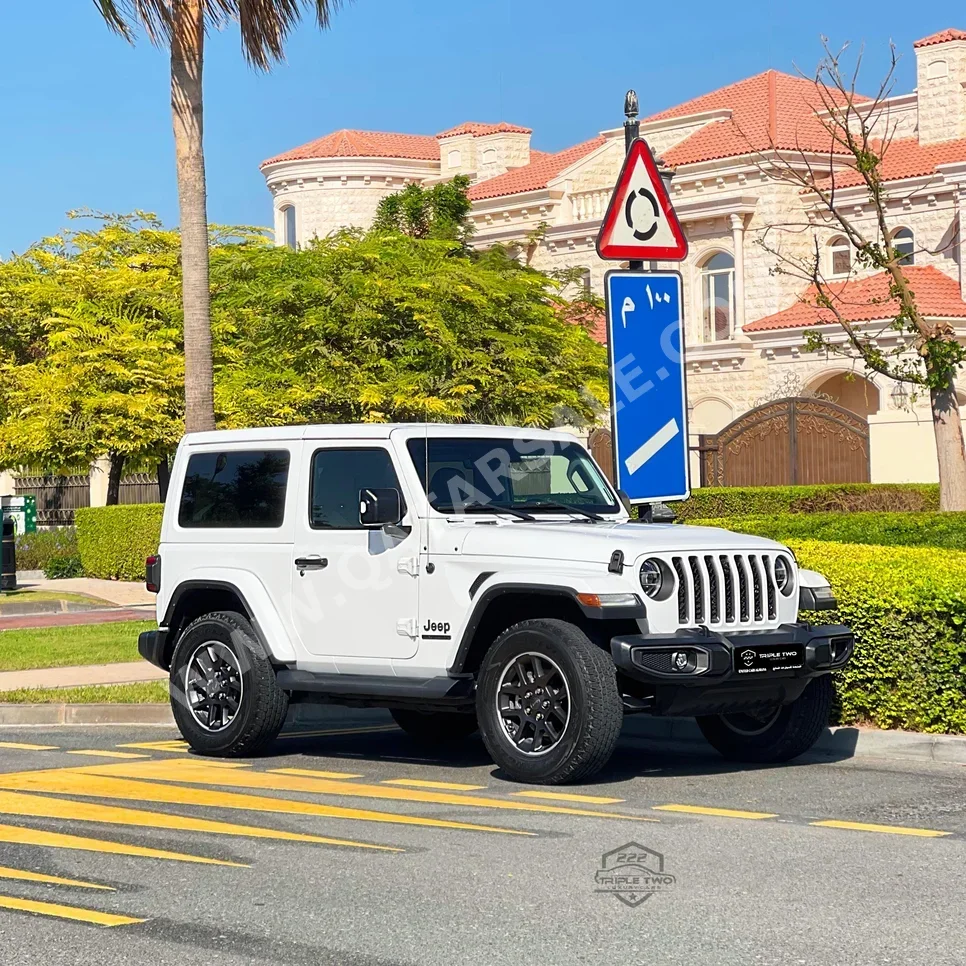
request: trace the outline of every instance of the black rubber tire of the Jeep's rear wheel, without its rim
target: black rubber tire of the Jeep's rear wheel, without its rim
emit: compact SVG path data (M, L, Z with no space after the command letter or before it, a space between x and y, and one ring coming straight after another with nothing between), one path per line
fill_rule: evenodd
M234 719L223 730L210 732L188 710L185 665L206 641L224 644L242 670L242 697ZM268 654L248 619L234 611L204 614L181 634L171 661L171 710L185 741L194 751L218 758L257 754L282 730L288 694L275 679Z

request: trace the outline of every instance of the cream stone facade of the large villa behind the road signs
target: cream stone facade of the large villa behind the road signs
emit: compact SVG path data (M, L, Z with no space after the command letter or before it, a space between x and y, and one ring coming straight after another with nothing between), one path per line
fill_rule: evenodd
M911 231L915 264L932 265L957 280L966 301L966 145L957 153L955 143L966 139L966 34L946 31L927 38L917 44L916 56L917 90L881 105L880 115L873 119L876 132L888 131L913 157L933 146L946 145L946 153L922 170L911 166L912 173L900 172L889 183L890 229ZM783 80L786 86L793 82ZM733 104L725 96L732 89ZM773 76L767 89L778 89ZM656 154L673 156L680 146L729 125L741 109L740 91L741 83L709 95L710 104L697 99L694 111L683 105L645 119L641 135ZM760 113L761 105L751 108ZM784 109L778 105L779 113ZM490 128L500 129L486 133ZM470 216L474 244L520 243L540 228L538 243L527 252L530 263L546 271L583 269L585 284L602 293L605 272L618 266L602 262L594 242L624 157L622 129L602 132L598 142L575 157L567 152L531 155L529 132L509 125L463 125L439 135L437 141L439 153L433 159L327 157L263 166L274 196L280 242L285 238L283 212L289 205L295 206L298 241L304 243L342 225L365 227L380 199L407 181L433 183L462 173L474 185L493 178L501 178L495 184L509 184L508 172L516 172L508 190L493 197L477 192L480 197ZM821 157L821 152L814 157ZM557 159L562 160L555 163ZM833 274L830 243L840 231L828 216L798 186L779 177L761 151L725 150L716 155L709 150L677 163L671 193L690 252L683 263L655 267L676 268L683 277L692 433L717 432L766 399L819 392L869 417L873 439L879 440L874 443L874 478L935 479L935 449L924 401L896 408L889 380L867 379L855 359L806 352L800 329L743 329L795 305L804 291L800 278L776 273L778 258L770 249L807 258L817 240L823 272ZM875 237L874 211L864 188L845 187L836 197L839 210ZM717 338L709 338L707 263L719 254L733 264L728 282L732 305L725 313L730 316L726 337L718 332ZM861 276L862 270L853 264L851 274ZM932 457L904 460L903 448L912 445L911 439L916 452L929 453L933 446ZM890 456L887 450L893 447Z

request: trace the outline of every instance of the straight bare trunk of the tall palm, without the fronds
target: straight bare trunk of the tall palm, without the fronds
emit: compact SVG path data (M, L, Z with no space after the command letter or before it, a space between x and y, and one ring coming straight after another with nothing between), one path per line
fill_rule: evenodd
M172 15L171 115L181 214L185 431L192 433L215 428L201 83L205 0L174 0Z

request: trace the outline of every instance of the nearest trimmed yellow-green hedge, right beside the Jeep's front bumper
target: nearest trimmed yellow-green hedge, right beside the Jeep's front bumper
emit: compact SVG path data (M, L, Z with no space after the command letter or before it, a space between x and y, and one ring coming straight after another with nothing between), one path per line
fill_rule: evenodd
M791 541L802 567L824 574L856 635L835 675L842 723L966 733L966 553Z

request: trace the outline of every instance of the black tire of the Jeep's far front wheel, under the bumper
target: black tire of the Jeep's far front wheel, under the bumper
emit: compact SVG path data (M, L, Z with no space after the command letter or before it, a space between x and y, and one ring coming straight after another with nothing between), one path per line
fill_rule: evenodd
M724 715L705 715L697 722L709 744L729 761L771 764L805 754L828 726L831 707L832 677L823 674L810 681L760 734L739 734Z

